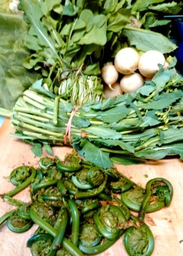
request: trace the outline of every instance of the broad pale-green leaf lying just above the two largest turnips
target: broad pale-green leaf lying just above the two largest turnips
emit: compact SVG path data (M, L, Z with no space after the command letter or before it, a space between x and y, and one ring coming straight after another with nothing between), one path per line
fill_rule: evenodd
M149 51L155 49L161 53L171 53L178 46L171 42L164 35L148 31L146 29L137 29L135 27L125 27L123 34L126 35L131 45L136 46L140 51ZM154 43L156 42L156 43Z

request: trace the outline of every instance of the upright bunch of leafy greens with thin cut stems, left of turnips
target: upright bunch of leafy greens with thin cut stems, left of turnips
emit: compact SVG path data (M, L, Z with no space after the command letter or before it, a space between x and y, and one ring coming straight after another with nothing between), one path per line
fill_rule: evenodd
M85 87L90 94L92 88L96 95L92 98L97 99L102 95L101 67L119 49L133 46L163 54L176 49L167 36L153 29L170 23L163 14L178 13L182 4L161 2L20 0L19 9L29 26L24 43L31 51L24 67L40 73L43 85L56 95L71 98L74 93L71 100L81 104L86 99L78 94L78 87L84 84L81 90Z

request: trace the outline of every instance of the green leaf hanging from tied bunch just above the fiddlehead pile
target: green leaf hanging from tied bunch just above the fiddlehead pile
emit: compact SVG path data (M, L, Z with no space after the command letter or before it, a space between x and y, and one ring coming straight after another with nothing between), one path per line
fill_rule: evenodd
M81 147L82 150L80 150L80 153L85 157L86 161L90 161L96 166L103 167L104 169L113 167L113 163L109 158L109 153L102 152L98 147L84 139L81 139Z

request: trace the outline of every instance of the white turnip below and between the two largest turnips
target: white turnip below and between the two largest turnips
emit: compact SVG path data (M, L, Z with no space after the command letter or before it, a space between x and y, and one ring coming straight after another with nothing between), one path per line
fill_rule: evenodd
M143 76L139 73L133 73L131 75L124 75L120 81L120 87L123 92L136 92L144 84Z

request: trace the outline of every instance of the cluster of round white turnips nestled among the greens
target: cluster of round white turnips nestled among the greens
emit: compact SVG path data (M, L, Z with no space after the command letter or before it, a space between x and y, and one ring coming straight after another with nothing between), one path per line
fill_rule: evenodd
M159 70L159 65L166 66L165 56L157 50L138 53L134 48L120 49L113 64L106 64L101 69L106 98L112 98L121 93L136 92L151 80Z

